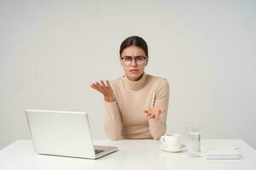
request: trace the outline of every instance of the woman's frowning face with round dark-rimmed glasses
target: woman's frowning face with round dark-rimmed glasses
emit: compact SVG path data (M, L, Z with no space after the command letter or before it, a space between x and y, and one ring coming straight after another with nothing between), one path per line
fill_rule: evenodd
M129 65L129 60L131 61L131 65ZM120 63L125 71L126 77L130 81L135 82L143 75L144 68L148 64L148 57L146 57L143 48L130 46L123 50Z

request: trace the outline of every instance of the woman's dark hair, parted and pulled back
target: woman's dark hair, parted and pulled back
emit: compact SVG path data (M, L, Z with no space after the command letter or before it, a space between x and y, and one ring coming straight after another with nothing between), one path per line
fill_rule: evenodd
M131 36L131 37L127 37L120 46L120 51L119 54L121 56L123 50L125 48L128 48L130 46L137 46L138 48L143 48L146 56L148 56L148 45L147 42L145 42L145 40L143 40L142 37L138 37L138 36Z

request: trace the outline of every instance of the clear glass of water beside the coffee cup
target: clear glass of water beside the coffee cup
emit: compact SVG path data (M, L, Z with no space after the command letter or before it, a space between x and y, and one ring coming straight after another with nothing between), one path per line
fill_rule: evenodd
M201 156L201 132L198 126L188 126L188 156L199 157Z

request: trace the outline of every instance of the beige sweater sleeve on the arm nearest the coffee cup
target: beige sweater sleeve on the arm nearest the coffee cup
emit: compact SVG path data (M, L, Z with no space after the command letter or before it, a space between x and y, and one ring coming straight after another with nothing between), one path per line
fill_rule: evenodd
M160 117L155 119L150 119L149 122L149 131L153 139L160 139L160 136L166 133L166 117L168 111L169 103L169 83L166 79L160 82L160 88L156 93L154 100L154 107L161 107L165 109L165 113L160 114Z

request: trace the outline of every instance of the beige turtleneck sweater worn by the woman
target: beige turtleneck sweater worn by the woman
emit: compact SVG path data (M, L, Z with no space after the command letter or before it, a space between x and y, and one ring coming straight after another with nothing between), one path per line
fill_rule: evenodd
M105 101L105 131L110 139L159 139L166 133L169 84L164 78L143 74L137 82L120 77L110 82L116 97ZM158 119L148 120L144 110L165 109Z

